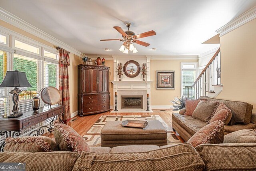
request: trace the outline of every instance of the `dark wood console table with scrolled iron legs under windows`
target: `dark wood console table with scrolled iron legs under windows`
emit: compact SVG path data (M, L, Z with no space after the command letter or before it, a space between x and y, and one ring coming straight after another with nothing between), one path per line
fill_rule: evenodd
M30 132L32 136L38 136L44 134L44 129L47 128L48 131L52 132L54 129L53 122L54 120L59 118L59 121L64 123L60 118L60 116L64 115L65 105L52 105L52 106L44 106L40 107L38 111L28 111L23 113L22 116L17 118L0 118L0 136L5 135L7 137L18 137L20 135L20 131L24 129L29 129L33 125L36 125L46 119L51 117L52 121L50 125L42 126L38 130L33 130ZM3 142L0 145L0 151L3 151L4 148Z

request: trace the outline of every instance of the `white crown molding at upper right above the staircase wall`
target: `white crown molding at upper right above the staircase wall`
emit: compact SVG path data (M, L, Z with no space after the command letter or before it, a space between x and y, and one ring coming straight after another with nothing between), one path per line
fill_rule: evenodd
M238 16L234 20L228 22L226 25L224 25L221 28L219 28L218 30L216 30L216 32L220 34L220 37L224 36L225 34L254 20L255 18L256 18L256 6L254 6L250 10L246 11L244 14Z

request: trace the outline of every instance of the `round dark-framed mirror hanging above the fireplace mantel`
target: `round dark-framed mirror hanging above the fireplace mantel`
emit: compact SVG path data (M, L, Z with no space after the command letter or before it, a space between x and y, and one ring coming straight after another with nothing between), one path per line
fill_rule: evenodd
M136 61L128 61L124 64L124 74L127 77L134 78L140 74L140 65Z

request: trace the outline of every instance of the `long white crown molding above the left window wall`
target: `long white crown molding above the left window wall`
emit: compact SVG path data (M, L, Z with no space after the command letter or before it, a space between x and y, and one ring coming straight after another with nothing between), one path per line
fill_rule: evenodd
M32 26L28 22L22 20L21 18L18 18L14 14L4 10L1 7L0 7L0 20L3 20L4 22L7 22L15 27L18 27L30 34L33 34L34 36L37 36L38 38L46 40L47 42L49 42L51 44L60 46L61 48L68 50L72 54L75 54L75 55L81 56L81 57L86 56L82 52L76 50L75 48L72 48L71 46L68 46L64 42L61 42L60 40L54 38L50 34L47 34L46 32L43 32L42 30L36 28L35 26Z

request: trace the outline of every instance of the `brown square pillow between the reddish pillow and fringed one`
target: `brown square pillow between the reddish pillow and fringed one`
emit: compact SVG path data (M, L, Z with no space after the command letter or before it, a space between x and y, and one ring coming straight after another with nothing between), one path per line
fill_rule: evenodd
M219 102L200 101L196 106L196 109L194 110L192 117L209 123L218 105Z

